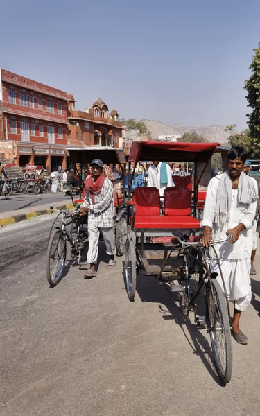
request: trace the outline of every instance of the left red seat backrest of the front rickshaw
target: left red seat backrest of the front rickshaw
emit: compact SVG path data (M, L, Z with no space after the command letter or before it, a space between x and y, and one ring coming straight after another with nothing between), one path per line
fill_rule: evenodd
M159 191L153 187L138 187L132 193L135 215L159 216Z

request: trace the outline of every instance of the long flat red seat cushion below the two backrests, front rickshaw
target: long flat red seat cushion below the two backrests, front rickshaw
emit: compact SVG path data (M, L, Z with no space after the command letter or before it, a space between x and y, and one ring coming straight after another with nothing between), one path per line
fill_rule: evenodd
M139 215L135 216L134 229L200 229L200 221L192 216Z

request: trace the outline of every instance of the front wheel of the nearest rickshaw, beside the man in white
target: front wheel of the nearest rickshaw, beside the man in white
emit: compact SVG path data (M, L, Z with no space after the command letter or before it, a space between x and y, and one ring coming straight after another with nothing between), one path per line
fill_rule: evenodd
M213 291L207 294L209 334L214 354L216 370L224 383L229 383L232 375L232 344L227 303L220 284L211 279Z

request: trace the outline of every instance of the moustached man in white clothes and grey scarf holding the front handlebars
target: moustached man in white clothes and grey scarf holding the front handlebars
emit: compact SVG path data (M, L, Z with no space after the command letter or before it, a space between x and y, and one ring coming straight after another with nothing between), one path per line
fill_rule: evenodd
M250 257L252 252L252 224L258 204L257 182L243 173L245 150L239 146L227 153L227 171L213 177L207 188L203 211L202 244L209 247L212 239L229 242L215 245L223 272L229 300L234 302L232 336L240 344L247 344L248 337L241 331L239 321L242 311L251 302ZM211 272L223 291L218 263L212 263Z

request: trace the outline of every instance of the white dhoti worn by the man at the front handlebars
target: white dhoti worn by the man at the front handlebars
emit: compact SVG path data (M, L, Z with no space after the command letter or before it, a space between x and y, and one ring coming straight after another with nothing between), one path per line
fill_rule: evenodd
M225 281L227 297L234 302L238 311L245 311L251 302L252 291L250 281L250 257L243 260L220 259L220 267ZM218 273L218 283L222 290L223 282L220 276L218 263L211 263L211 272Z

